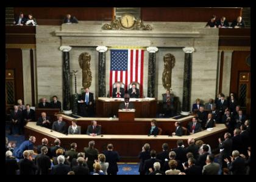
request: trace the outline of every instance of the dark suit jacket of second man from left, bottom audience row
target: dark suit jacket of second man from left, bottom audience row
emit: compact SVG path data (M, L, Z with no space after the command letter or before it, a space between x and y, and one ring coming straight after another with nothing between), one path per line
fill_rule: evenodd
M35 175L37 166L27 158L20 160L20 175Z

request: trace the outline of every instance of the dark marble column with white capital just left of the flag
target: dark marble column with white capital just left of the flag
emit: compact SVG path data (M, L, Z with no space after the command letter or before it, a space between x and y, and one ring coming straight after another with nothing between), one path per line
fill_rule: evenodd
M99 70L98 70L98 87L99 97L106 96L106 54L107 47L98 46L96 50L99 52Z

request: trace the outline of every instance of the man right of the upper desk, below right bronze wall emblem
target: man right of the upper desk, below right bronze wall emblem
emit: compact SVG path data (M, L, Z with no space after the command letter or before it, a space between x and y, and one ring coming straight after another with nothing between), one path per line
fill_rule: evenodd
M174 115L174 95L170 90L166 90L163 96L163 115L173 116Z

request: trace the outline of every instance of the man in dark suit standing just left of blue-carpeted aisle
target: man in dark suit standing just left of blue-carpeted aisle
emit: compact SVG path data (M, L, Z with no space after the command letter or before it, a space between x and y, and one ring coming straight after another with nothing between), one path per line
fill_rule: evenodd
M120 159L118 152L113 151L113 144L108 144L107 145L107 150L102 152L106 160L105 162L108 163L108 169L107 169L107 174L108 175L116 175L118 172L118 161Z

